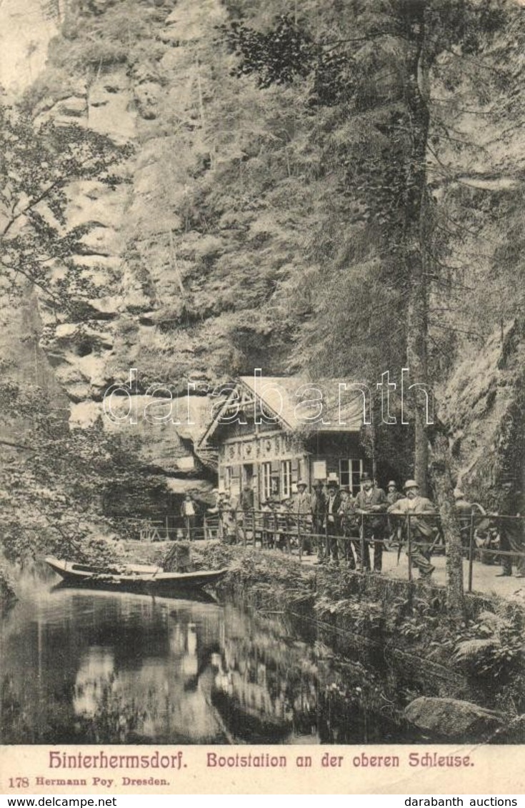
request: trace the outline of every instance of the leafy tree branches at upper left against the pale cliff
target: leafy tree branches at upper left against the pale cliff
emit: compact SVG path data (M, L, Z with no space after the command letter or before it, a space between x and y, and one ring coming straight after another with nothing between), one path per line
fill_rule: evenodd
M90 225L68 227L67 188L90 179L115 187L123 181L115 166L130 149L75 124L38 125L0 106L0 151L0 291L19 292L20 281L25 291L30 281L58 316L71 318L95 292L72 259Z

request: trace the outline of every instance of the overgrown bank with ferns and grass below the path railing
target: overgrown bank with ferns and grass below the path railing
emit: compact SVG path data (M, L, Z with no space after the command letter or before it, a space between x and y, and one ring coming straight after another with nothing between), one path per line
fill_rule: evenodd
M134 549L129 545L126 553ZM166 546L135 545L140 558L134 558L160 562ZM525 740L519 719L525 713L521 604L494 594L465 595L465 618L458 627L448 618L443 587L417 580L315 567L278 551L216 542L192 546L192 556L201 567L230 568L216 589L221 600L309 624L320 654L339 664L366 659L376 666L383 681L378 684L374 677L373 687L388 691L383 697L395 702L391 714L400 717L418 701L421 709L414 720L425 726L438 723L443 740L460 740L464 721L475 723L479 740ZM363 681L364 688L368 684ZM372 696L377 700L377 692ZM460 729L453 714L460 716Z

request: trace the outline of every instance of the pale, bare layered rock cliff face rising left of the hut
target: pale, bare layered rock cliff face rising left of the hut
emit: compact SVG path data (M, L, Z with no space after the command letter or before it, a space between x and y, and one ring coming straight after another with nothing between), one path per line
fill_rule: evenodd
M213 0L180 2L175 10L172 2L136 2L128 4L129 15L121 6L71 4L64 36L51 45L48 70L27 95L37 122L73 122L135 145L132 160L122 166L130 183L69 186L68 225L90 225L75 259L96 292L82 306L82 318L67 322L40 297L37 330L69 398L73 424L93 423L109 386L125 383L129 368L137 368L134 431L144 438L145 463L193 476L192 440L209 408L202 395L187 395L188 382L203 393L203 382L214 384L227 368L224 335L201 314L193 322L187 306L188 276L216 246L205 234L190 232L183 213L188 183L206 160L199 52L209 48L222 12ZM143 417L150 385L160 383L183 397L176 405L183 417L168 426ZM128 426L120 416L106 423L109 429Z

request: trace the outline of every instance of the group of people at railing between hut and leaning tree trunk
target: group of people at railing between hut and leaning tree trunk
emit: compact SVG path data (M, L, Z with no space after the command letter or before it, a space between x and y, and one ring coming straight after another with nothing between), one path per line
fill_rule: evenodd
M394 481L388 483L385 493L367 473L360 483L361 490L354 497L348 486L339 486L336 474L330 474L327 480L316 480L311 493L307 483L298 480L293 497L263 500L257 511L262 519L262 543L289 549L296 541L307 555L317 543L319 564L346 563L351 569L380 572L384 542L394 537L403 541L405 517L410 512L414 515L410 519L412 562L423 577L430 578L434 567L428 547L435 537L435 526L428 517L435 515L435 507L419 496L417 482L405 483L405 495ZM255 528L251 486L241 490L237 501L225 490L216 489L214 494L216 503L208 514L217 514L220 537L223 541L244 541L246 532Z

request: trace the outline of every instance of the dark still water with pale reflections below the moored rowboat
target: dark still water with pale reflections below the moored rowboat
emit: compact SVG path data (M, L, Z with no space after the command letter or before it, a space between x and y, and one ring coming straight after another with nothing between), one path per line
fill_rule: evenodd
M2 625L2 743L418 740L306 627L190 600L31 583ZM311 630L311 627L310 627Z

